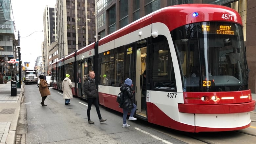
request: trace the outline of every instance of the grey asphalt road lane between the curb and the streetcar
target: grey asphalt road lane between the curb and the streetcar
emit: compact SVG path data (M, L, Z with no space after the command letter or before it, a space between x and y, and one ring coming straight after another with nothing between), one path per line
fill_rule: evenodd
M99 123L96 109L91 110L91 120L87 120L87 101L71 99L71 105L65 105L62 92L52 90L45 104L40 105L41 96L37 85L25 85L23 104L17 131L20 143L118 143L118 144L164 144L185 142L167 134L160 133L145 121L128 121L129 128L122 128L122 113L100 106L100 112L106 122Z

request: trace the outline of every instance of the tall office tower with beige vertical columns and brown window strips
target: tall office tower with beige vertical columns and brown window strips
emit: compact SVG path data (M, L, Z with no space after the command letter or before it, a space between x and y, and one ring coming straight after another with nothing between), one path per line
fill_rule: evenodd
M57 0L58 58L95 42L95 0Z

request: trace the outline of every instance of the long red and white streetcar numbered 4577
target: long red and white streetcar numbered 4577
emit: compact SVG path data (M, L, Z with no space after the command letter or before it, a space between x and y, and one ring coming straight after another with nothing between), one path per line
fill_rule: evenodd
M135 116L175 130L244 129L255 109L241 17L220 5L162 8L71 53L52 68L55 89L61 90L68 73L73 94L85 99L83 75L95 71L99 103L119 112L120 84L132 79ZM145 95L140 86L144 70Z

